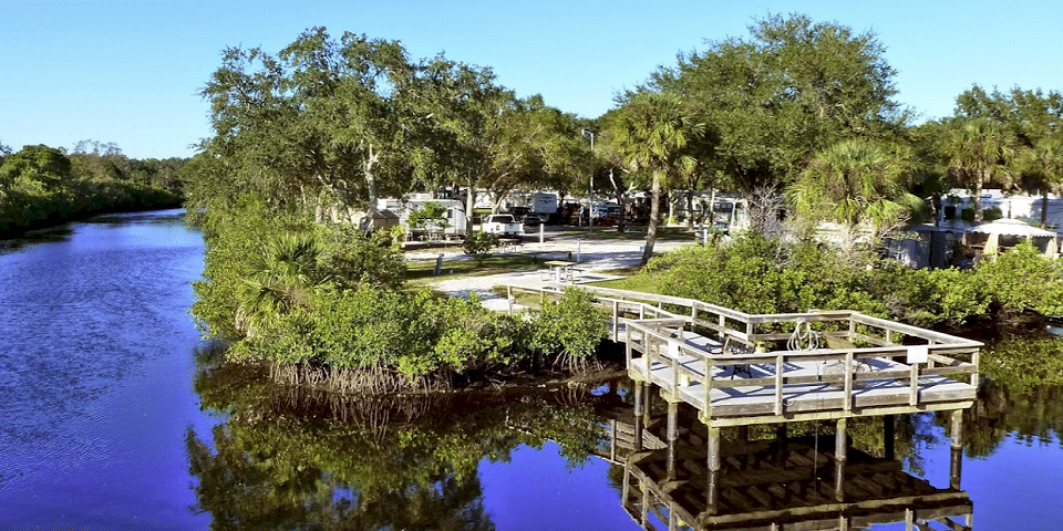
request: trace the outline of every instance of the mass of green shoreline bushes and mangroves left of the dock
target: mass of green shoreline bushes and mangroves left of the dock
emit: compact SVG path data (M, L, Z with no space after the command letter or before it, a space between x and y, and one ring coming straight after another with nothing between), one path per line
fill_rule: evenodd
M384 236L288 227L258 243L245 232L256 223L240 219L249 225L205 226L215 243L193 314L230 342L225 357L266 362L275 382L389 394L598 366L608 316L586 292L502 314L475 298L403 290L402 251Z

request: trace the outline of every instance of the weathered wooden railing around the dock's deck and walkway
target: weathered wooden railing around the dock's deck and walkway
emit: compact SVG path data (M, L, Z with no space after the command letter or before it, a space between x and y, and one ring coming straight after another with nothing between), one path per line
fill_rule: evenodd
M640 366L647 372L653 366L669 367L668 381L658 384L673 396L681 391L701 393L703 414L709 418L713 389L771 388L773 413L781 416L786 413L785 388L793 385L836 385L843 392L837 406L845 413L854 408L854 392L871 381L907 383L910 408L923 405L920 381L927 377L945 376L978 386L982 343L972 340L853 311L747 314L693 299L588 285L580 289L594 293L596 304L611 314L611 339L626 343L629 371L636 352L644 357ZM540 303L564 294L556 287L509 285L510 302L522 291L537 293ZM798 330L812 332L802 341ZM687 340L688 332L711 343L693 344ZM741 348L729 347L733 345ZM869 369L873 360L895 363ZM832 369L798 374L808 362L823 362L822 366ZM750 366L767 376L734 377L736 367ZM731 376L721 376L727 368Z

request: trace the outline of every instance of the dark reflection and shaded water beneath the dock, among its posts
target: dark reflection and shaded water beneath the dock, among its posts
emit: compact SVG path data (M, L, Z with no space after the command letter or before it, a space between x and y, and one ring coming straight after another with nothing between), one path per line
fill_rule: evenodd
M953 449L948 487L902 469L891 445L886 457L854 448L837 434L746 440L747 430L723 440L719 469L704 458L708 428L684 412L668 418L634 415L630 405L599 408L608 418L600 457L619 467L620 502L647 530L859 530L904 523L908 531L971 531L973 503L960 490L962 452ZM638 435L637 435L638 434ZM638 437L638 438L637 438ZM838 480L840 478L840 482Z

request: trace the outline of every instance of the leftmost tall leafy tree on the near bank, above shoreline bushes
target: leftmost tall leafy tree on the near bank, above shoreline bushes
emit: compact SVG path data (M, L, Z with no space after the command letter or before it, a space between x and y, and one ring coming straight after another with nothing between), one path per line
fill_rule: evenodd
M405 149L424 118L410 102L422 72L398 41L336 41L323 28L276 56L228 49L202 91L215 129L205 147L227 160L237 190L309 208L319 221L368 210L371 229L378 197L409 187Z

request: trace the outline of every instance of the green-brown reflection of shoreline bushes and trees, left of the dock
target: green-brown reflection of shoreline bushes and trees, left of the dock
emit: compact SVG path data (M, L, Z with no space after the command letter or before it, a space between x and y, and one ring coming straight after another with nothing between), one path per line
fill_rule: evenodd
M588 391L352 398L268 384L254 366L204 371L210 440L187 434L211 529L494 529L477 475L522 445L571 464L603 442Z

